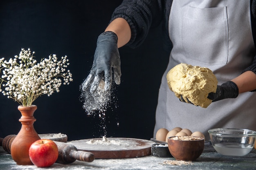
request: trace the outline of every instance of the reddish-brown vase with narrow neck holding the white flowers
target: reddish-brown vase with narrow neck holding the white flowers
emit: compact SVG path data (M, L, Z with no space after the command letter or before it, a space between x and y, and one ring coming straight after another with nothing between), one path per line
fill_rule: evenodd
M33 164L29 159L29 147L40 139L33 125L36 121L33 116L36 109L36 105L18 106L21 113L21 129L11 144L11 157L18 165Z

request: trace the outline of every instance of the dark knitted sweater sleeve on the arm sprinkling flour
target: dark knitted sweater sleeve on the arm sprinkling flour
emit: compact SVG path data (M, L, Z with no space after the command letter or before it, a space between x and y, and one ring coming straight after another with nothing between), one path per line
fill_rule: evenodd
M150 27L163 19L164 0L124 0L112 14L112 20L124 18L131 28L131 39L127 45L139 46L146 38Z

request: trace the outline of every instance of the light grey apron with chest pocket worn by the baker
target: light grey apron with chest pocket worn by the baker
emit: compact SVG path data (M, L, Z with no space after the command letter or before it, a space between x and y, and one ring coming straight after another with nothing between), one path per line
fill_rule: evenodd
M201 131L206 140L211 128L256 130L256 93L201 108L180 102L166 82L168 71L180 63L210 68L218 85L240 75L255 54L250 0L173 0L169 36L173 49L159 89L154 137L159 128Z

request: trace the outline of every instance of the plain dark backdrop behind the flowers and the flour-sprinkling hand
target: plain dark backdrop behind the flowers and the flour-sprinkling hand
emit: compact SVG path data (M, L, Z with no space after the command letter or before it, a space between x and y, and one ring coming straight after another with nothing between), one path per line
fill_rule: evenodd
M163 50L162 27L150 29L137 49L124 46L121 84L115 86L117 100L105 119L90 116L79 100L79 85L87 77L97 37L104 31L121 0L1 0L0 57L18 55L21 48L35 51L36 60L67 55L74 81L59 93L41 96L34 127L38 134L65 133L68 140L94 137L150 139L162 74L168 62ZM1 73L2 74L2 73ZM117 106L117 107L115 107ZM21 124L18 103L0 94L0 137L17 134ZM117 126L119 122L119 126ZM106 125L106 131L103 130Z

